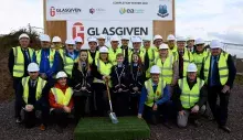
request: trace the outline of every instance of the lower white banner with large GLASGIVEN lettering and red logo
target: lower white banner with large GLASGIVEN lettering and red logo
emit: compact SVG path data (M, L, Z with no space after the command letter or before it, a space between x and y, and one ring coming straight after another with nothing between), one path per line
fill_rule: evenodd
M67 21L67 39L81 36L84 40L84 47L87 49L87 39L105 34L106 45L110 46L109 39L113 35L149 36L152 39L152 21ZM131 44L130 44L131 46Z

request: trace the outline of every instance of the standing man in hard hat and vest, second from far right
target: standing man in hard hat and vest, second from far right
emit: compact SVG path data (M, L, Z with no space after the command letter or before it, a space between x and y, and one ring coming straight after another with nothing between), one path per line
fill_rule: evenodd
M194 58L194 64L198 67L198 73L197 73L198 77L201 77L200 72L202 68L202 62L209 55L209 51L207 51L204 49L204 44L205 44L204 40L202 40L201 37L197 39L196 40L196 50L192 54L193 58Z

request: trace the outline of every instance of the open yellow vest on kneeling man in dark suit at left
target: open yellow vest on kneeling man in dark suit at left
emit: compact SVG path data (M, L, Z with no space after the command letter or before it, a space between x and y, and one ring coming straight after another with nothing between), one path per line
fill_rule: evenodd
M28 104L28 98L29 98L29 79L30 79L30 76L23 77L21 82L23 86L23 100L25 104ZM46 80L40 77L38 78L38 85L36 85L36 91L35 91L36 100L41 98L42 89L44 88L45 84L46 84Z

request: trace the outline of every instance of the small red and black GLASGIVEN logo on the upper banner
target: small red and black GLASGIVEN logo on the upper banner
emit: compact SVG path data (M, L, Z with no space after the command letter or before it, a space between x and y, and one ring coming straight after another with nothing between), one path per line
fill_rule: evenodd
M55 17L56 14L77 14L81 13L82 9L80 8L59 8L56 9L55 7L50 8L50 15Z

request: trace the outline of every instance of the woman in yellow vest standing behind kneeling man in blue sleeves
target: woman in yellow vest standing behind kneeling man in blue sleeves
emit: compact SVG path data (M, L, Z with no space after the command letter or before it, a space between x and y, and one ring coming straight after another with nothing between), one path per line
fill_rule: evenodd
M155 60L155 65L161 68L160 77L170 85L170 94L173 94L173 87L179 78L179 67L167 44L159 46L159 56Z

